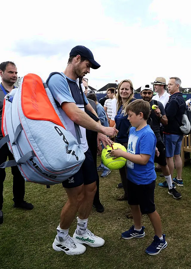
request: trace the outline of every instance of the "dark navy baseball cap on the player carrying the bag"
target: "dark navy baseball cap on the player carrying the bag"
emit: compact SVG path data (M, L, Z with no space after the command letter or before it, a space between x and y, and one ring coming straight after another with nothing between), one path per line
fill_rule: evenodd
M80 55L81 57L87 58L90 63L92 64L91 68L98 69L100 65L94 60L93 53L91 50L84 46L76 46L70 51L70 56L77 56Z

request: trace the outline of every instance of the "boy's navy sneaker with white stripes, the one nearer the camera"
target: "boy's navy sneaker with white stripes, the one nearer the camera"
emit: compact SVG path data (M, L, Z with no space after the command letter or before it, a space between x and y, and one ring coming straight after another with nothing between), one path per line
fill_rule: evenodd
M157 255L163 248L167 247L167 241L165 240L165 234L162 235L163 240L158 238L157 235L153 237L153 242L151 245L146 249L146 253L149 255Z

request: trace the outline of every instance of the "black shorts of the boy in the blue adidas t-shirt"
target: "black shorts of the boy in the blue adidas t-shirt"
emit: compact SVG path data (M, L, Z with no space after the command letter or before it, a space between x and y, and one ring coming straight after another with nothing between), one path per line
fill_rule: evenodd
M139 205L142 214L155 211L155 180L147 185L137 185L127 179L128 204Z

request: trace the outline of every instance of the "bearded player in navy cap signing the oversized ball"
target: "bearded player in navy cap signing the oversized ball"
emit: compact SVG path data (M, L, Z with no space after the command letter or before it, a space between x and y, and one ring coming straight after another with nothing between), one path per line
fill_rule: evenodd
M94 60L93 54L89 49L84 46L76 46L70 52L65 70L60 74L52 73L47 79L50 92L60 105L58 109L64 122L67 124L67 129L76 136L75 127L76 124L79 125L81 148L85 155L85 160L79 171L62 182L68 200L61 211L53 249L55 251L62 251L67 255L84 253L86 247L82 244L100 247L105 243L104 239L95 236L87 228L88 217L97 189L96 180L98 173L87 144L86 129L97 132L98 140L101 140L105 147L106 144L110 145L112 143L108 137L117 135L118 130L114 127L102 126L100 122L96 122L84 112L84 110L88 110L93 114L94 118L98 116L88 102L81 85L81 79L87 73L90 73L90 68L97 69L99 67L100 65ZM71 237L69 235L69 228L77 212L77 227Z

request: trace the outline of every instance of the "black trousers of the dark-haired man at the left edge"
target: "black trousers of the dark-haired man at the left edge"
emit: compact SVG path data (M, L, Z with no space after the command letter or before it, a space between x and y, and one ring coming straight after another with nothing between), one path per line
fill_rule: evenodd
M6 162L7 157L9 158L9 160L14 160L13 154L10 152L7 144L5 144L0 149L0 164ZM24 177L22 177L17 166L11 167L11 173L13 175L13 201L15 203L20 203L24 200L25 180ZM0 168L0 210L2 210L3 207L3 182L5 180L5 177L5 168Z

